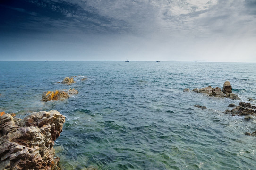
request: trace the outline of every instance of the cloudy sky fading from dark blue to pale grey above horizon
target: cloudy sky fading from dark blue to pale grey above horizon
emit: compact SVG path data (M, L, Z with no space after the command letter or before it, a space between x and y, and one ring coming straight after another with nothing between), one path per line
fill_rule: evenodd
M0 0L0 61L256 62L256 0Z

